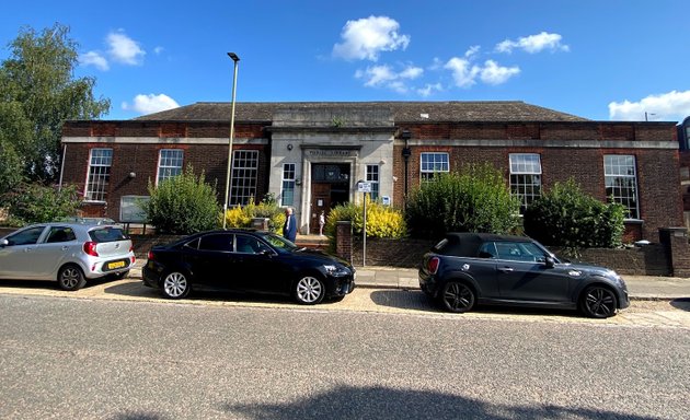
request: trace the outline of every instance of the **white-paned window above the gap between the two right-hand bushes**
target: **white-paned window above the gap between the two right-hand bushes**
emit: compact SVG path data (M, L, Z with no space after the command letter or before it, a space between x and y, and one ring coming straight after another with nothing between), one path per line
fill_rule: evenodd
M520 213L541 197L541 160L534 153L511 153L510 194L520 199Z

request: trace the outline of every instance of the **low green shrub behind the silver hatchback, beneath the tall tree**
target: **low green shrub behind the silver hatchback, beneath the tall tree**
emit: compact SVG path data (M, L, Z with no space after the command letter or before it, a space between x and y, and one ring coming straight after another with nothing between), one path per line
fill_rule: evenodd
M77 214L81 195L73 185L61 189L41 184L20 184L2 196L11 226L53 222Z

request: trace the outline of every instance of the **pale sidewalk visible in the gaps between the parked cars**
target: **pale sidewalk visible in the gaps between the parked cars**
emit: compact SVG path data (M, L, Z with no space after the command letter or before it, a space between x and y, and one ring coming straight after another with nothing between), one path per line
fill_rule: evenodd
M138 259L129 272L129 278L140 279L146 259ZM365 289L419 289L417 270L384 266L360 266L357 270L358 288ZM628 293L633 301L690 301L690 278L662 276L622 276L628 284Z

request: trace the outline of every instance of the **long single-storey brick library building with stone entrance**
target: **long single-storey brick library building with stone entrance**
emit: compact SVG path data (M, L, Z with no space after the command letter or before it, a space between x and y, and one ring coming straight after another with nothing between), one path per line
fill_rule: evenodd
M68 121L61 184L84 212L126 219L133 197L191 164L226 190L229 103L197 103L122 121ZM491 162L524 203L574 177L628 209L626 240L682 225L675 122L591 121L522 102L238 103L230 205L273 194L300 231L321 210L372 196L402 206L438 172ZM123 215L125 214L125 215Z

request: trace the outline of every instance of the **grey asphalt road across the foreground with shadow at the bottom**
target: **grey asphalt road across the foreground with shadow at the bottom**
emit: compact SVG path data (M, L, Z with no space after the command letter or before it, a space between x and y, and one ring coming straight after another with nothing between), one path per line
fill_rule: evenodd
M0 294L2 419L682 419L682 327Z

